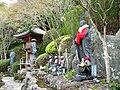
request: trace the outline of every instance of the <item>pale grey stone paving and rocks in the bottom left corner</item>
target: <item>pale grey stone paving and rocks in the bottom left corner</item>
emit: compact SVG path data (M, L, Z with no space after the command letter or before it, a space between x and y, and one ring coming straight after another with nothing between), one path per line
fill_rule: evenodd
M34 73L34 71L27 71L25 79L22 82L14 81L14 77L3 77L2 81L5 83L5 85L2 86L0 90L48 90L47 88L38 87L38 85L36 84L37 79L33 76ZM42 75L45 74L45 72L39 73L41 73ZM28 87L24 87L25 85L28 85Z

